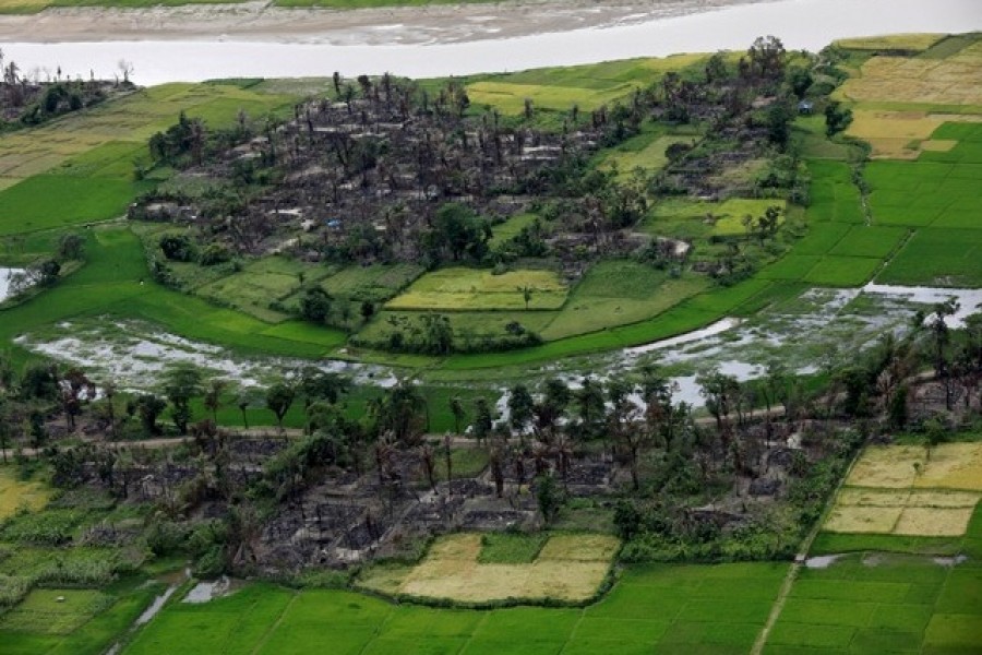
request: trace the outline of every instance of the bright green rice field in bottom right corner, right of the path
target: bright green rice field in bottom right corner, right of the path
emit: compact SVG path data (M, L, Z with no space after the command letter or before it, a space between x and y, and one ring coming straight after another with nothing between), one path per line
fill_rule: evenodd
M921 555L938 541L950 539L823 533L815 550L853 552L801 570L764 653L978 653L982 505L951 551L967 560Z

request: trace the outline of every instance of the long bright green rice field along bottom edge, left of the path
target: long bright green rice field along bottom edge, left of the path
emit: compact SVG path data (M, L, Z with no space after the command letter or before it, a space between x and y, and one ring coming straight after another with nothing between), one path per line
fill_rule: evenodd
M175 603L124 653L393 652L464 655L746 653L786 564L652 565L625 570L584 609L432 609L350 592L253 584L204 605Z

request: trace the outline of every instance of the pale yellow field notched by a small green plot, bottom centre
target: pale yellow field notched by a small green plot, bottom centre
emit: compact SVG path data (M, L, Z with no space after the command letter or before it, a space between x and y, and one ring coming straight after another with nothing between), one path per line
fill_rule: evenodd
M416 567L370 572L361 584L391 594L465 603L586 600L603 582L618 546L609 535L555 535L531 563L480 563L481 535L456 534L438 539Z

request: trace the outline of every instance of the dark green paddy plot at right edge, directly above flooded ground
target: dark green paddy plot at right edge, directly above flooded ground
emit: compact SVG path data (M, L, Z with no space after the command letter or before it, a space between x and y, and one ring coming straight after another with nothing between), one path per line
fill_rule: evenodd
M886 284L982 285L982 229L919 229L890 260L877 282Z

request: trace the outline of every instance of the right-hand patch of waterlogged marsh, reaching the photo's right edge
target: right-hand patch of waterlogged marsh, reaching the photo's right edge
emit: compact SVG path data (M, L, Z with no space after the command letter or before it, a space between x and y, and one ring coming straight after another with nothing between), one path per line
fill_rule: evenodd
M699 373L719 370L741 381L761 378L769 365L798 374L830 370L847 357L874 345L884 334L901 335L918 311L955 299L953 326L982 310L982 289L896 287L869 284L858 289L814 288L779 302L745 321L723 319L703 330L625 348L618 353L571 358L540 369L574 386L587 373L604 380L610 371L657 365L675 383L674 398L702 406ZM506 398L500 404L506 405Z

